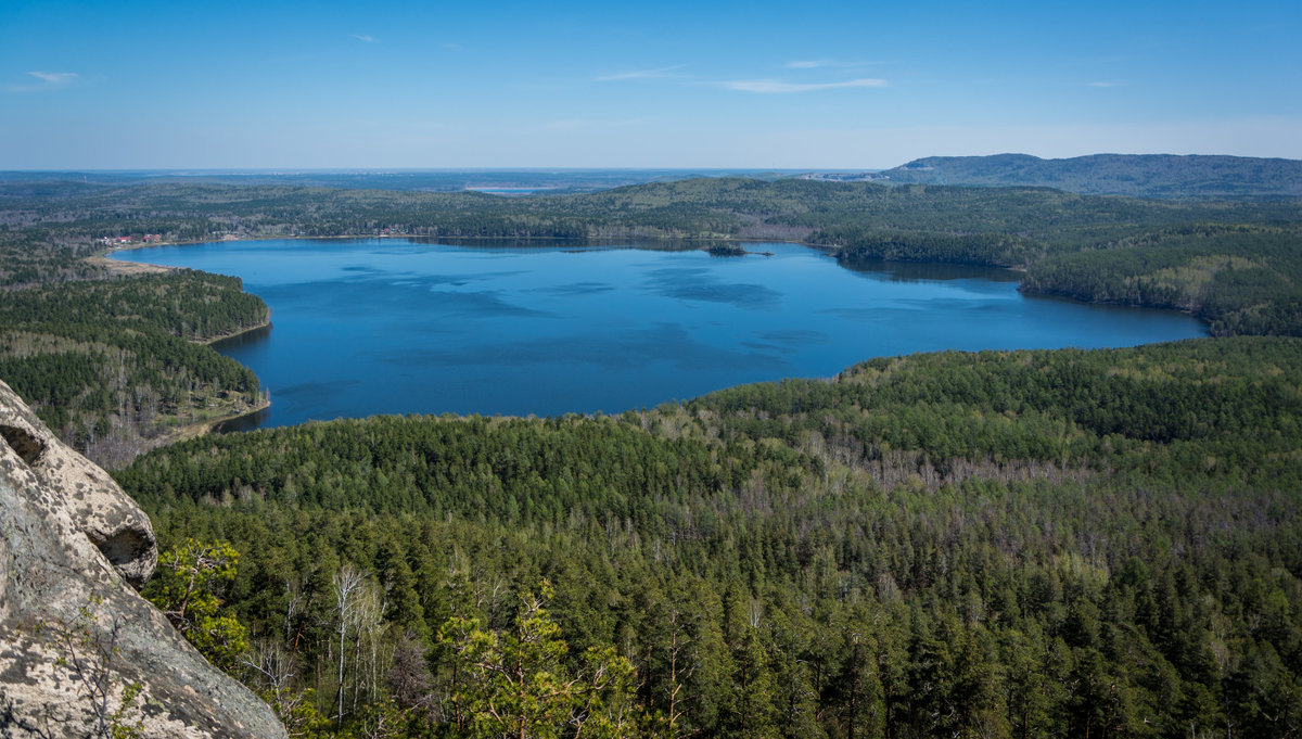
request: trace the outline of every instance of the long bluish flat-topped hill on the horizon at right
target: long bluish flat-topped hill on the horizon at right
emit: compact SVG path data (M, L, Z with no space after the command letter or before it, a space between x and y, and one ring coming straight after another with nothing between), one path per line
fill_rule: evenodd
M883 172L888 182L1040 186L1086 195L1225 198L1302 195L1302 161L1245 156L1025 154L928 156Z

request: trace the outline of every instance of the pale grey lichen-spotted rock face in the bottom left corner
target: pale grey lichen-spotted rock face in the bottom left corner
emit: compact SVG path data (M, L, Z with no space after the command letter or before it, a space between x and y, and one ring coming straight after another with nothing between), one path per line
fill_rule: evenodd
M0 383L0 736L285 736L135 592L156 561L143 511Z

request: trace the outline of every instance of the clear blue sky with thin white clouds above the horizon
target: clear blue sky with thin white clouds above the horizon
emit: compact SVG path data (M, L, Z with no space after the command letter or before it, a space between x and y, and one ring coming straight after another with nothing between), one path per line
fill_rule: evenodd
M0 3L0 169L1302 159L1302 3Z

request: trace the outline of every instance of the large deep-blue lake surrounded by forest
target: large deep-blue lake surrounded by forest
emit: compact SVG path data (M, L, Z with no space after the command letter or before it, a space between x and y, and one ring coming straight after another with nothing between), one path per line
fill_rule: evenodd
M270 330L217 346L271 390L255 425L618 412L741 383L829 377L881 355L1207 334L1178 312L1026 297L1008 271L852 269L798 245L747 249L772 256L323 239L116 258L236 275L271 306Z

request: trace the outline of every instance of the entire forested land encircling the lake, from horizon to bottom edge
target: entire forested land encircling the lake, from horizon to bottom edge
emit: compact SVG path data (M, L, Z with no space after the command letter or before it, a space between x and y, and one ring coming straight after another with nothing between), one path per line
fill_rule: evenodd
M124 241L790 239L1216 336L878 358L617 416L312 423L117 470L167 550L146 595L193 604L177 626L294 736L1302 734L1299 200L53 182L0 186L0 377L112 466L258 402L202 341L267 320L237 280L85 259Z

